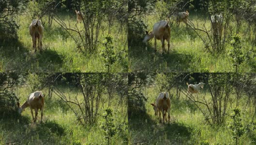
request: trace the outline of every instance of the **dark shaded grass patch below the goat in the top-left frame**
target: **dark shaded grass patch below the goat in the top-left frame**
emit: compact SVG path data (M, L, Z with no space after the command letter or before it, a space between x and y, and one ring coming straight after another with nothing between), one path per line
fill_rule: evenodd
M52 49L43 50L40 53L33 52L32 48L24 47L19 41L3 43L0 46L3 57L4 72L51 72L62 67L64 57Z

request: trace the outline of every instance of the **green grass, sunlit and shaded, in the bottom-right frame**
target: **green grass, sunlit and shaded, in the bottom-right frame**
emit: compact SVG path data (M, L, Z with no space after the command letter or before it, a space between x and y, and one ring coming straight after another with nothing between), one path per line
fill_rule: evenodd
M198 97L209 92L201 92ZM153 107L150 103L155 102L159 95L158 90L151 87L144 90L148 101L145 103L146 113L137 115L128 120L130 140L134 144L148 145L232 145L235 144L231 138L231 131L227 124L210 125L204 119L202 113L196 106L186 101L185 95L181 94L180 100L171 100L170 124L160 124L159 117L155 116ZM235 97L235 96L231 96ZM240 101L240 109L244 109L245 101ZM233 108L235 108L233 106ZM228 106L227 114L231 112ZM252 114L248 109L243 110L242 118L249 121ZM228 120L228 118L227 118ZM256 131L245 133L240 137L240 145L256 144Z

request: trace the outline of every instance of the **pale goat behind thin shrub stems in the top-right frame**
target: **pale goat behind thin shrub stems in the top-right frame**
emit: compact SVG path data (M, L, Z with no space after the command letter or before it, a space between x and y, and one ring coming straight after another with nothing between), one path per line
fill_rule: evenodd
M223 15L215 14L215 15L211 15L210 18L211 18L212 28L214 30L214 35L217 35L218 32L222 33L222 31L223 31L223 27L222 27Z

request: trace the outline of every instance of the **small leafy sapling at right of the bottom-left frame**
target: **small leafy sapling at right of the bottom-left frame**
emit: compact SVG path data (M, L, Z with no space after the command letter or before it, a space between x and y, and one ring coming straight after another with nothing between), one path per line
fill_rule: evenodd
M108 145L111 145L111 138L116 134L116 128L113 123L114 119L112 118L113 110L111 108L105 109L103 113L104 121L101 124L101 128L104 131L104 135L106 140L108 141Z

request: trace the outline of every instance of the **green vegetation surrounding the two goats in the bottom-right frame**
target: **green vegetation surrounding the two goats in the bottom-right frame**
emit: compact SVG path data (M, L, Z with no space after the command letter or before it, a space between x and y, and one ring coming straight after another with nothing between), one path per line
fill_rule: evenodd
M254 73L129 73L128 78L132 144L256 143ZM186 82L206 85L187 95ZM163 91L171 98L170 124L161 124L150 105Z

